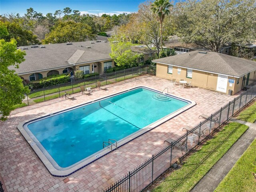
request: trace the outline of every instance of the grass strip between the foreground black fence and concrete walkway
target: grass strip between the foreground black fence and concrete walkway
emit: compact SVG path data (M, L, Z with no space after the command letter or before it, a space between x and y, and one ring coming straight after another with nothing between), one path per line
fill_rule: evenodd
M247 129L248 126L236 122L226 125L200 150L188 157L183 166L172 172L154 192L190 191Z

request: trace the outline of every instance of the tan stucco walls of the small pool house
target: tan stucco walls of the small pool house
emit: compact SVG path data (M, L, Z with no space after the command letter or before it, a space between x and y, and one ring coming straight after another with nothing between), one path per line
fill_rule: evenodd
M178 74L178 68L180 68L180 74ZM192 78L186 77L186 68L182 67L175 67L172 68L172 74L169 74L168 72L168 65L165 64L156 64L156 76L165 78L165 79L176 79L176 81L180 81L180 79L184 79L187 82L191 81L192 86L198 86L210 90L217 91L217 82L218 82L218 74L212 74L208 72L202 72L198 70L192 71ZM253 78L254 72L250 73L250 78ZM232 81L234 80L234 83ZM226 87L226 93L228 94L228 90L232 90L233 94L236 94L240 90L242 90L242 78L239 78L239 83L237 84L238 78L229 77L228 76L228 82Z

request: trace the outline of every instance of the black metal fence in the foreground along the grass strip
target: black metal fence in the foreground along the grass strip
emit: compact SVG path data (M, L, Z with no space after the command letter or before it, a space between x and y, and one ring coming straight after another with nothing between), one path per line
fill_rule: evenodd
M177 162L178 158L182 158L195 148L213 130L226 122L255 97L256 86L234 98L234 100L220 108L220 110L211 114L206 120L188 130L156 154L153 154L151 158L128 172L114 184L103 190L103 192L140 192L144 190Z

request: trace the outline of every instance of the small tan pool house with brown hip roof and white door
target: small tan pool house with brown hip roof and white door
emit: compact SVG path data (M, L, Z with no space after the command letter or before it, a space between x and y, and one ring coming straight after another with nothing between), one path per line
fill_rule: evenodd
M158 77L185 80L192 86L225 94L242 90L243 77L256 78L256 62L216 52L193 51L153 62Z

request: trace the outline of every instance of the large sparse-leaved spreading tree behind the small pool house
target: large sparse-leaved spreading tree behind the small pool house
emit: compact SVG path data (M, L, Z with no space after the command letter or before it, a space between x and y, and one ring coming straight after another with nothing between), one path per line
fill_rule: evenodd
M175 11L177 34L186 43L220 52L226 42L256 39L255 0L188 0Z

